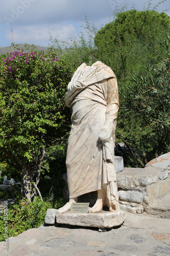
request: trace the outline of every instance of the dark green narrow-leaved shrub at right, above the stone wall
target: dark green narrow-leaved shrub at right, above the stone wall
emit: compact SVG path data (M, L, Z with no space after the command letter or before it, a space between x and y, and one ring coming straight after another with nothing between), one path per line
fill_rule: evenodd
M131 144L142 152L145 151L145 154L151 152L153 157L170 150L170 37L167 36L161 44L166 58L157 65L145 67L142 73L132 75L133 89L127 88L128 93L124 97L126 116L135 120L138 129L134 130L133 120L124 117L124 123L132 124L133 132L131 130L130 133L134 133L135 141ZM138 140L137 136L140 136L141 140ZM127 138L129 143L131 138Z

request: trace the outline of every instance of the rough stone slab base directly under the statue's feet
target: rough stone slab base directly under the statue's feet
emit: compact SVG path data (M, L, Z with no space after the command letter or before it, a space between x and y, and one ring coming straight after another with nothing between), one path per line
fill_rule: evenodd
M65 214L56 214L57 223L74 226L112 228L122 225L124 221L125 212L123 210L103 210L101 212L87 214L77 214L70 212L66 212Z

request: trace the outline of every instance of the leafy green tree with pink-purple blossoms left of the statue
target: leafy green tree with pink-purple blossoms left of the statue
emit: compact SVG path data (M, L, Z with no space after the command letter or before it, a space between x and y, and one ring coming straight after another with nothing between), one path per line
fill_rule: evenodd
M64 95L71 73L55 51L18 49L0 61L0 161L22 174L22 195L31 201L41 197L47 148L69 130Z

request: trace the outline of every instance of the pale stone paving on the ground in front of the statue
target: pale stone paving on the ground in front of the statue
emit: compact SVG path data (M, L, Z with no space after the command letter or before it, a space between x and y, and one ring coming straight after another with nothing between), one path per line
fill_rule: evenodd
M41 225L9 238L2 256L163 256L170 255L170 220L126 212L120 227Z

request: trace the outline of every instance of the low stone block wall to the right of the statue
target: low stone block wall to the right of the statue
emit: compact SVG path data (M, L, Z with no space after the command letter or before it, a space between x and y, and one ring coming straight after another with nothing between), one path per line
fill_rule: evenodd
M134 214L149 211L156 200L169 195L170 153L144 168L124 168L117 173L117 187L121 209Z

